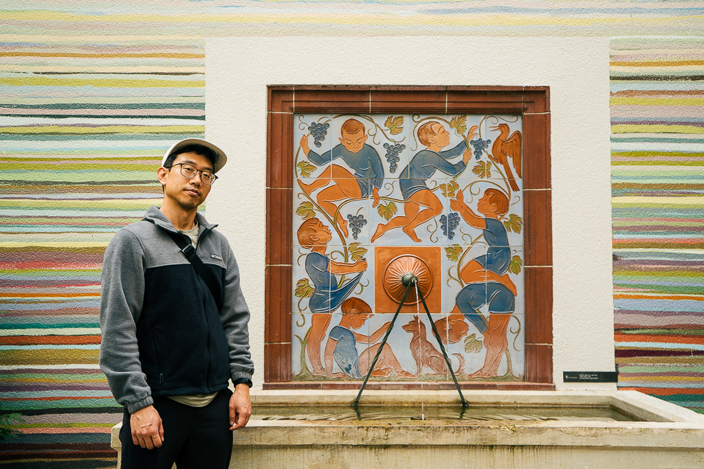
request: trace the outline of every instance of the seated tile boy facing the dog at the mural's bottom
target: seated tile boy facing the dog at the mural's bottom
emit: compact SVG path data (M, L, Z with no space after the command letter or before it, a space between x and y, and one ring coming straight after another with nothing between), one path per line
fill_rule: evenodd
M391 326L388 321L370 335L356 333L354 330L364 326L367 319L372 316L372 308L364 300L357 297L350 297L342 303L342 318L337 326L330 330L325 344L325 369L331 378L364 378L369 372L374 356L381 344L374 344L386 333L386 329ZM357 350L357 341L370 345L361 354ZM332 373L332 361L339 366L342 373ZM398 378L415 378L408 371L401 368L398 359L391 350L388 343L384 344L382 353L379 354L372 376L389 378L396 374Z

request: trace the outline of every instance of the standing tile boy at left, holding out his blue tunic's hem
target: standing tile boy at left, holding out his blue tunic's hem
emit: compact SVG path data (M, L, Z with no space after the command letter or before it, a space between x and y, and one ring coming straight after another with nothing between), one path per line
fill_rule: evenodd
M351 295L352 290L367 270L367 261L364 258L356 262L336 262L327 255L327 243L332 239L332 231L317 218L303 221L296 232L298 243L303 248L309 248L310 254L306 255L306 273L313 283L313 295L308 300L308 308L313 313L310 319L310 333L306 351L308 359L313 366L313 375L324 376L320 360L320 343L325 337L325 330L329 326L332 311ZM339 285L337 275L356 274L348 281Z

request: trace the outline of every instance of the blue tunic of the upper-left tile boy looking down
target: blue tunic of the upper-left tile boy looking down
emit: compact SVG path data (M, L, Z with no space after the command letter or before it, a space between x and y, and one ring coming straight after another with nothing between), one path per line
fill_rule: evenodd
M379 158L379 153L374 147L365 143L361 150L357 153L352 153L340 143L322 155L318 155L313 150L308 152L308 160L318 166L325 165L335 158L342 158L354 170L357 184L359 184L359 188L362 191L362 197L369 197L372 187L377 188L377 190L382 188L382 184L384 184L384 167L382 166L382 159Z

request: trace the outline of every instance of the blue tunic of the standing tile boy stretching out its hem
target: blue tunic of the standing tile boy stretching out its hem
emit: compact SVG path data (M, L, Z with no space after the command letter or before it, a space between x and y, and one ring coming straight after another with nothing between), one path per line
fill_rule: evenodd
M311 252L306 256L306 272L314 288L308 302L312 313L331 313L339 308L362 277L363 272L360 272L338 288L337 277L327 270L329 262L330 259L319 252Z

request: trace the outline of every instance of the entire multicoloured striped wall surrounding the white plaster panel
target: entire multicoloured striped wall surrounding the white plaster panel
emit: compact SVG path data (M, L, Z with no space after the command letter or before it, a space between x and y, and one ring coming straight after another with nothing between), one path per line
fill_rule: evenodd
M698 36L703 24L704 6L695 1L4 0L0 413L20 412L25 423L17 425L23 436L0 443L0 466L115 463L109 428L120 408L97 367L102 252L120 226L159 198L153 172L163 148L204 133L203 37ZM612 91L622 93L613 96L612 108L620 385L656 395L674 390L665 398L697 407L701 355L692 334L702 309L696 300L702 181L695 153L704 150L696 133L678 128L663 136L655 126L665 118L681 129L701 129L684 119L702 115L696 109L702 89L677 78L704 75L701 46L615 39L613 49ZM681 93L660 96L659 86ZM655 94L638 94L647 91ZM681 105L628 101L643 98ZM647 115L639 114L643 109ZM658 155L636 153L652 150ZM687 348L671 355L664 345L629 345L641 342L691 344L689 357L681 353ZM666 374L673 371L679 374ZM643 378L653 373L662 379ZM658 386L663 383L683 387Z

